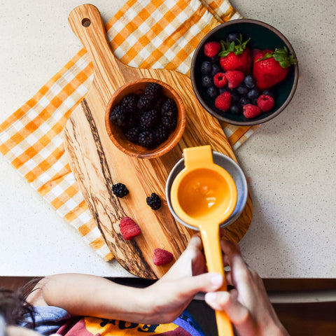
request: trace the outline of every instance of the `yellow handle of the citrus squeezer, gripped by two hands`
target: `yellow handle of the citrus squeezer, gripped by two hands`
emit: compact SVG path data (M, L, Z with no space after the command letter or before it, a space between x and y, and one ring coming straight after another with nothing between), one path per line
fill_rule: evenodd
M220 246L220 235L218 225L206 225L204 228L200 228L205 258L207 260L207 266L209 272L220 273L223 276L224 266L223 266L223 256ZM224 283L220 290L226 290L227 286ZM218 336L233 336L232 325L230 319L225 311L216 310L216 323L218 329Z

